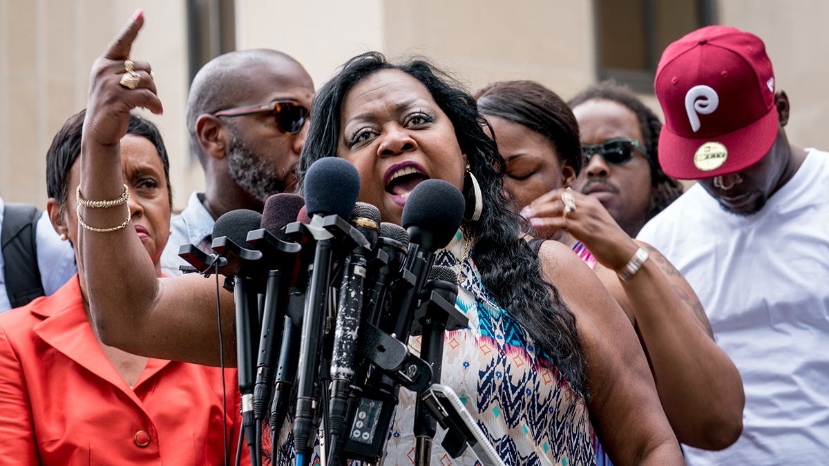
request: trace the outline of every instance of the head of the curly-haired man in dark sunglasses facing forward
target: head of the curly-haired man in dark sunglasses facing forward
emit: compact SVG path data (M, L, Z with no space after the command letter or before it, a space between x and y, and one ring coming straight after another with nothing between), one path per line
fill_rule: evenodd
M662 123L627 86L605 80L568 104L579 122L584 170L579 192L596 197L631 237L682 194L657 160Z

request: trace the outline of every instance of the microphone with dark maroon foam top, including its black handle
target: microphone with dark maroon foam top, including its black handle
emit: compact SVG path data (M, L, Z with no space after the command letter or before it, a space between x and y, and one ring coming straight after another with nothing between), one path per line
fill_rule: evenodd
M257 423L265 417L265 409L274 387L274 359L279 351L279 330L284 331L285 308L288 304L288 285L301 246L285 234L285 226L292 222L305 206L303 197L280 192L264 203L261 228L250 231L247 242L264 254L268 265L265 297L262 311L262 332L259 336L259 357L256 361L254 386L254 417Z

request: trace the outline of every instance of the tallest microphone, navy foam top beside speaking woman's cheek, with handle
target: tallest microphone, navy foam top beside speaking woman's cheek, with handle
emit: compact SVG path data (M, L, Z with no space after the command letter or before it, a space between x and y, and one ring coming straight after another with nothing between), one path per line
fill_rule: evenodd
M314 388L322 349L322 319L326 313L330 283L332 239L336 237L332 231L342 229L345 223L342 217L347 217L354 208L360 193L360 174L342 158L321 158L308 167L304 192L306 211L311 216L307 229L316 244L299 342L297 409L293 421L297 464L303 466L308 464L311 451Z

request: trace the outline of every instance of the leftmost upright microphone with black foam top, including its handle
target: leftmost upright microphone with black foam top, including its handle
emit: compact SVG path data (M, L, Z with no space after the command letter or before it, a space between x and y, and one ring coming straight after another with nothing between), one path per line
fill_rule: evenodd
M246 244L248 231L259 228L262 215L245 209L229 211L216 219L213 226L213 250L228 260L225 274L233 274L233 295L236 308L236 361L239 373L239 391L242 395L242 427L255 457L253 392L255 385L255 335L259 334L259 305L257 277L262 253L240 245Z

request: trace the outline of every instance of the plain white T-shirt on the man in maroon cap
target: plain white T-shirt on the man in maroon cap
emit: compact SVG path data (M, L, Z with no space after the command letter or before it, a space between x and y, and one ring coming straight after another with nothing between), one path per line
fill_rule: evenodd
M829 458L829 153L806 160L762 211L724 211L699 184L638 235L685 274L745 388L728 449L689 464L826 464Z

